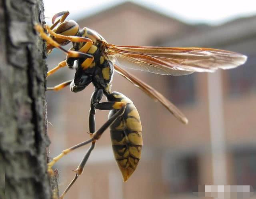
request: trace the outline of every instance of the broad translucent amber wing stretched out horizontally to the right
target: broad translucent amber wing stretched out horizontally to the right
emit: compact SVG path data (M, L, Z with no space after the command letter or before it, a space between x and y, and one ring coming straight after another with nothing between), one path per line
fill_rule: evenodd
M108 54L115 56L122 66L162 75L230 69L244 64L247 59L236 52L212 48L106 45Z

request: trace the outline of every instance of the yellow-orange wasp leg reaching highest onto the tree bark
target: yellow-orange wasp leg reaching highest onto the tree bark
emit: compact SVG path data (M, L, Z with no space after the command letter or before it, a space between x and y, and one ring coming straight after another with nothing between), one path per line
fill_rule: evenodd
M47 44L50 44L54 46L55 48L58 48L62 51L64 51L69 57L72 58L88 58L90 60L94 60L94 57L91 54L86 54L83 52L78 52L78 51L73 51L73 50L66 50L58 44L58 42L54 41L52 38L47 36L47 34L44 32L44 29L42 28L41 25L37 24L35 27L35 30L39 32L40 36L42 39L46 40Z

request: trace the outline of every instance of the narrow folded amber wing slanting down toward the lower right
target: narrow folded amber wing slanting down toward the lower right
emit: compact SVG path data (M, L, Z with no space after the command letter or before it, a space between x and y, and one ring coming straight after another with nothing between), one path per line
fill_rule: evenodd
M116 72L118 72L121 76L125 77L127 80L132 82L135 86L140 88L143 92L145 92L148 96L150 96L154 101L160 101L162 105L164 105L177 119L182 121L183 123L187 124L188 119L185 115L168 99L166 99L162 94L156 91L154 88L139 80L136 76L130 74L123 68L120 68L117 64L114 64Z

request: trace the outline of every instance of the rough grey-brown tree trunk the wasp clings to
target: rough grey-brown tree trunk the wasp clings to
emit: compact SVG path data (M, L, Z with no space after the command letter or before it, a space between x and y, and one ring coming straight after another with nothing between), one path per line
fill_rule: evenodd
M0 0L0 198L50 199L42 0Z

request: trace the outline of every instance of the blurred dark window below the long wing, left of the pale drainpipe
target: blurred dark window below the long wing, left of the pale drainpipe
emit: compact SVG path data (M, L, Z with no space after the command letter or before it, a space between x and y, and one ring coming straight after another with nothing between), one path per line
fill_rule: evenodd
M168 76L170 101L175 105L194 103L195 74L186 76Z

